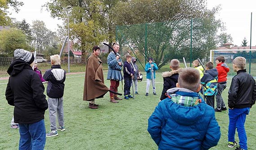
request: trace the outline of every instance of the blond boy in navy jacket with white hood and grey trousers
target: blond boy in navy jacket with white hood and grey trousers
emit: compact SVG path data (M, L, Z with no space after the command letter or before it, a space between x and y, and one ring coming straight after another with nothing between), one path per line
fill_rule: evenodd
M63 112L63 94L66 71L61 68L61 58L59 55L51 56L52 68L44 74L45 81L48 81L46 93L49 97L49 116L51 123L51 132L46 137L55 137L58 135L57 130L65 131L64 112ZM58 115L59 126L56 127L56 112Z

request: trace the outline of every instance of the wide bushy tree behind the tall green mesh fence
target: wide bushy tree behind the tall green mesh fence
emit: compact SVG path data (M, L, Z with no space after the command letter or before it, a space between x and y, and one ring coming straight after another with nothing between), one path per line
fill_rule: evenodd
M201 0L119 2L112 12L114 24L126 26L122 29L119 28L121 26L117 27L118 31L124 31L117 33L119 44L131 44L146 57L146 60L150 56L154 57L154 61L161 68L173 55L175 58L190 57L190 21L191 18L195 18L192 47L196 55L193 57L205 58L207 51L215 47L216 33L222 26L221 21L214 16L219 7L212 10L205 7L204 1ZM205 53L202 53L203 51Z

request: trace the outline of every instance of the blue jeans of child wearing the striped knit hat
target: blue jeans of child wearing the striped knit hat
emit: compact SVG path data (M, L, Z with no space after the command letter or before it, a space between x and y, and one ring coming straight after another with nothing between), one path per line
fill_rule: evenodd
M45 126L44 119L33 124L19 124L19 150L44 150Z

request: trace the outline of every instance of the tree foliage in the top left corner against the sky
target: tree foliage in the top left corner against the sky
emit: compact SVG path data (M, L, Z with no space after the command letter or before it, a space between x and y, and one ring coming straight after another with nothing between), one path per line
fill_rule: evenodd
M19 11L19 6L22 6L23 2L17 0L0 0L0 26L9 26L11 24L11 18L8 16L10 7L13 7L16 13Z

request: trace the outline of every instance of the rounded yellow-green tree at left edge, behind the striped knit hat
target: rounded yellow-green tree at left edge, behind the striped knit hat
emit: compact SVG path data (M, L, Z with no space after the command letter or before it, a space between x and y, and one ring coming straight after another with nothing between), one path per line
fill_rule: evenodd
M15 49L31 51L26 35L19 29L10 28L0 32L0 52L12 55Z

